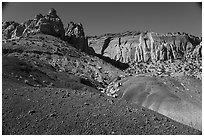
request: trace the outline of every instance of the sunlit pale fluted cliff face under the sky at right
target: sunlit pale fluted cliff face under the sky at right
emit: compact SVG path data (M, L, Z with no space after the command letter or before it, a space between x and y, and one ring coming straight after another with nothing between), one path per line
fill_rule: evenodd
M123 63L179 59L189 54L201 57L200 42L201 38L184 33L141 32L89 38L89 46L97 54Z

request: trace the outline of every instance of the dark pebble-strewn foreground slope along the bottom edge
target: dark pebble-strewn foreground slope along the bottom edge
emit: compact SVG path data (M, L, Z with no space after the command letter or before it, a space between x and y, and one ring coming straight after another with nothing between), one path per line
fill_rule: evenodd
M3 90L3 134L201 134L125 101L83 87Z

